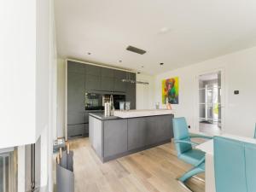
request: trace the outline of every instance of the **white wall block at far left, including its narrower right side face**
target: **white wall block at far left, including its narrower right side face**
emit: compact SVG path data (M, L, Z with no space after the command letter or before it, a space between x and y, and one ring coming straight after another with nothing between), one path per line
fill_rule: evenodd
M50 132L55 129L52 123L55 118L51 116L55 110L51 108L55 106L52 3L50 0L0 3L0 148L36 143L42 136L39 165L42 185L51 180ZM19 171L24 170L24 158L22 153L18 154ZM19 172L20 192L24 191L22 174Z

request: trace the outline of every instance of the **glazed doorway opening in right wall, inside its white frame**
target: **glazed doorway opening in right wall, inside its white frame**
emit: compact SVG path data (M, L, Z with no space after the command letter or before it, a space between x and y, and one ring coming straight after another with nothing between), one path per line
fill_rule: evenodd
M221 71L199 76L199 131L218 135L222 121Z

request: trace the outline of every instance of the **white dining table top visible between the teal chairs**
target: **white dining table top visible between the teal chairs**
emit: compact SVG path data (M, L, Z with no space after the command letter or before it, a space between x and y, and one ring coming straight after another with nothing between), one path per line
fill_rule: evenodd
M238 140L241 142L256 144L256 139L253 139L251 137L240 137L240 136L235 136L235 135L230 135L230 134L221 134L220 137L227 137L227 138L235 139L235 140ZM198 148L198 149L206 152L207 154L213 155L213 139L211 139L205 143L201 143L201 144L197 145L195 148Z

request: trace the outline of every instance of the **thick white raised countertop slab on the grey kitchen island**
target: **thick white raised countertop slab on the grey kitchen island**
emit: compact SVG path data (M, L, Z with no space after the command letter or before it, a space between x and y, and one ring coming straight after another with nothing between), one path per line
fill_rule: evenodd
M129 110L129 111L119 111L115 110L113 116L119 118L136 118L136 117L146 117L146 116L156 116L172 114L172 110L168 109L145 109L145 110Z

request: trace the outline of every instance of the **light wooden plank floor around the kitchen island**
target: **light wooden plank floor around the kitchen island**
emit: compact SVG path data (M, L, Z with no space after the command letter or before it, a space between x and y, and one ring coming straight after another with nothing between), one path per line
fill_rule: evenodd
M172 143L102 163L88 138L70 142L74 152L75 192L185 192L176 177L190 166L178 160ZM204 177L202 174L200 177ZM203 192L205 183L192 178L188 186Z

